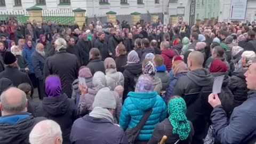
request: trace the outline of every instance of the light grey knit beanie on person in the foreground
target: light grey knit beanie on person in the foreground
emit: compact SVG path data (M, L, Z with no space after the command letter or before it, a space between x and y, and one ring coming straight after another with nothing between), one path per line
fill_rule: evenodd
M108 87L103 87L95 95L92 107L116 109L116 98L114 92Z

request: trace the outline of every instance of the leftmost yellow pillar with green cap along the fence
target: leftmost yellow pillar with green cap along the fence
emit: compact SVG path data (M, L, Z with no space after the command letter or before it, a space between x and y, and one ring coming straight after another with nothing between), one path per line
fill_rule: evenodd
M42 8L32 6L26 10L28 11L28 16L30 21L36 20L36 22L43 22Z

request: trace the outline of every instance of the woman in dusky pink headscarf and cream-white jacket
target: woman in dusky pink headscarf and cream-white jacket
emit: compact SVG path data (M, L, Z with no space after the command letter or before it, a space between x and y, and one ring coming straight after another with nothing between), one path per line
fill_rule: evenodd
M124 87L124 76L122 73L116 71L116 62L113 58L107 58L104 61L107 86L111 91L114 91L115 87L122 85Z

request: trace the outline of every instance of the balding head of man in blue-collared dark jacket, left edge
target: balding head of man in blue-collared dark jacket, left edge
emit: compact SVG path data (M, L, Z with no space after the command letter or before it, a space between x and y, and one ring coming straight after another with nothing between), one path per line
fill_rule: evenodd
M18 114L27 111L26 93L11 87L1 94L0 108L2 115Z

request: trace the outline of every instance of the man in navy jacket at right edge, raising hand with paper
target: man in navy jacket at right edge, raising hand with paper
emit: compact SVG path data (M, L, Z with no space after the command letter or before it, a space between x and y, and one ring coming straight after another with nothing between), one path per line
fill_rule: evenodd
M214 134L220 143L254 143L256 134L256 61L252 60L246 71L247 89L249 97L239 107L236 107L228 119L221 105L218 94L210 94L208 101L213 107L211 121Z

